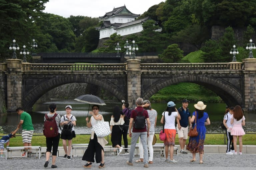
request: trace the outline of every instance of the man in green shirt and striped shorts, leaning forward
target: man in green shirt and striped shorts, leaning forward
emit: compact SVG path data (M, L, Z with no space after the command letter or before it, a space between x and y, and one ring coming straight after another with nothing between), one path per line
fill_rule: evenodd
M18 107L16 109L16 112L20 115L20 122L16 130L18 130L22 126L23 146L32 146L31 140L32 140L32 135L34 133L34 127L32 124L31 116L27 112L24 112L21 107ZM31 148L25 148L25 149L27 150ZM22 156L25 156L25 155L26 155L26 152L22 154Z

